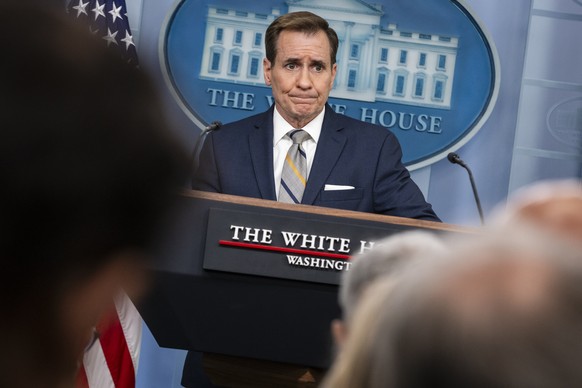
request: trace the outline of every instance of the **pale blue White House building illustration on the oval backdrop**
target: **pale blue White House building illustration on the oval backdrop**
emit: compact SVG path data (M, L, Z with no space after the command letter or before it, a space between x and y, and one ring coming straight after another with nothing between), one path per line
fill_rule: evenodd
M382 26L381 5L360 0L289 0L289 12L310 11L337 32L338 73L331 97L450 109L458 37ZM270 14L208 7L200 78L265 86L264 35Z

